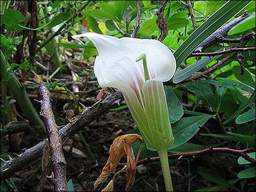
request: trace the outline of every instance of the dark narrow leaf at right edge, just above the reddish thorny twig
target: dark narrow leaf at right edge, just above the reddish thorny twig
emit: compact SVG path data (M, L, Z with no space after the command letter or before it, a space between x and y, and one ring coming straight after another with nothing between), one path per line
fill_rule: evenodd
M250 136L250 135L243 135L243 134L231 133L231 132L227 132L227 134L202 133L200 135L206 136L206 137L225 139L230 141L244 142L244 143L249 143L251 145L255 145L255 136Z

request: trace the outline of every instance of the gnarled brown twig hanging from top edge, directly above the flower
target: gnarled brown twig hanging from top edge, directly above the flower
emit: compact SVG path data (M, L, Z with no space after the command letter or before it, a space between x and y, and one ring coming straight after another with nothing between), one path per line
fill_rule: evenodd
M163 41L163 39L168 35L168 26L164 19L164 9L166 5L167 1L162 1L161 7L157 12L157 26L161 31L160 36L158 38L159 41Z

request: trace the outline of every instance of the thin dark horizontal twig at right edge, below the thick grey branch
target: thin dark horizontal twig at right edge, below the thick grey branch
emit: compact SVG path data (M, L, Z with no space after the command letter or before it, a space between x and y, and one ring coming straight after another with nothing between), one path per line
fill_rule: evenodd
M241 52L241 51L255 51L255 47L241 47L241 48L231 48L224 51L217 51L217 52L205 52L205 53L191 53L190 57L201 57L201 56L216 56L216 55L223 55L226 53L234 53L234 52Z

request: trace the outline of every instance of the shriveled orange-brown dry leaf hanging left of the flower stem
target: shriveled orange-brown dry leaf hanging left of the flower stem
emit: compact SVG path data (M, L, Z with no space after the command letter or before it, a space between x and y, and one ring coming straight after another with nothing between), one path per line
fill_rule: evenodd
M142 141L142 137L137 134L126 134L117 137L112 145L110 146L110 157L108 161L106 162L105 166L102 169L101 175L98 177L98 179L94 183L94 189L97 188L97 186L100 183L103 183L106 181L106 179L109 177L111 173L114 172L115 168L117 167L117 164L119 163L120 159L126 154L127 155L127 166L129 166L129 169L127 169L125 172L129 177L127 177L129 181L129 185L126 186L126 189L131 188L132 184L134 183L134 177L135 177L135 158L133 155L133 151L131 149L132 144L135 141ZM133 160L132 160L133 159ZM133 170L134 169L134 170ZM128 174L129 170L131 170L131 173Z

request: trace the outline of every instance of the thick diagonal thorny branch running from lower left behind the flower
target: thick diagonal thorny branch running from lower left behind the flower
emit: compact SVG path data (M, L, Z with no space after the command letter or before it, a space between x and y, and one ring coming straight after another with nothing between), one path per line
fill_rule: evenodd
M122 93L118 91L108 97L105 97L103 100L96 102L90 108L83 111L75 118L74 121L68 123L59 130L62 141L66 141L67 138L83 129L84 126L89 125L92 121L109 111L111 106L120 99L122 99ZM39 158L44 146L45 141L41 141L26 150L24 153L20 154L14 160L9 160L8 162L3 163L1 165L1 179L4 180L11 177L15 172L17 172L17 170L22 169Z

